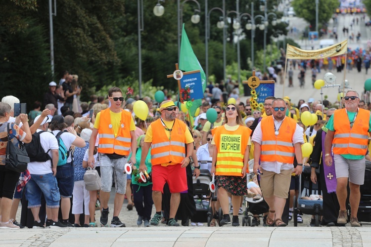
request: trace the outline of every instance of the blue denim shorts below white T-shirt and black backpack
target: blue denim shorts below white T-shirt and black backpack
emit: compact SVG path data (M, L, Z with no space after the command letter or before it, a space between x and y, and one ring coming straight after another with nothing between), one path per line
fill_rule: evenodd
M46 200L46 207L59 207L59 189L53 173L43 175L31 174L31 179L26 184L27 208L40 207L42 194L44 194Z

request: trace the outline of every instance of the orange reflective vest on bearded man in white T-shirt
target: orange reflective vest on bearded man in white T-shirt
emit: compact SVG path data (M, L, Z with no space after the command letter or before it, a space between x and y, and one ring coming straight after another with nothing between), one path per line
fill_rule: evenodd
M282 162L293 164L295 150L292 144L292 137L296 129L296 121L285 117L275 135L275 125L273 117L262 119L262 144L261 161Z

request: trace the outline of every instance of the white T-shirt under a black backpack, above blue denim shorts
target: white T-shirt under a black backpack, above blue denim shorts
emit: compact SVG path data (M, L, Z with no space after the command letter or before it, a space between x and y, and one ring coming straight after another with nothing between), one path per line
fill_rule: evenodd
M42 131L41 129L37 129L36 132ZM44 151L47 152L50 150L58 150L58 141L55 136L50 132L43 132L40 134L40 143L43 147ZM51 157L51 151L47 153ZM30 162L28 163L27 169L31 174L48 174L51 173L51 160L46 162Z

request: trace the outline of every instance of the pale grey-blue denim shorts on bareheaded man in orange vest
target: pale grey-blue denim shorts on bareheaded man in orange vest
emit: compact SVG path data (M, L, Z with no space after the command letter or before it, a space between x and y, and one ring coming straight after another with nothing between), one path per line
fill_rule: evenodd
M114 172L116 193L124 195L126 192L125 164L128 158L109 159L105 154L100 155L100 178L102 191L110 192L112 188L112 173Z

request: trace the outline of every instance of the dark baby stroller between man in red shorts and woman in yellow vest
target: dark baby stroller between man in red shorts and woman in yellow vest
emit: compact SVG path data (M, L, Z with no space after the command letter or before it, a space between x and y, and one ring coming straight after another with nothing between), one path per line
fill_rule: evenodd
M198 161L198 164L207 164L210 161ZM212 176L207 169L200 169L200 175L193 177L193 196L196 204L196 214L191 217L192 222L207 222L210 226L213 219L213 212L211 209L211 202L217 200L217 188L214 193L210 191L210 182Z

